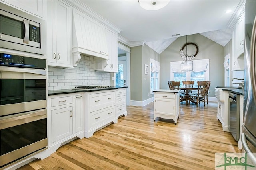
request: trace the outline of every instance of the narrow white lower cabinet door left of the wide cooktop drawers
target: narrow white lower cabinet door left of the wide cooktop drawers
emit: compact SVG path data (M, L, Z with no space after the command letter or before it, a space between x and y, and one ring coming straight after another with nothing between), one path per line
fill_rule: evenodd
M75 96L75 131L79 132L83 129L83 107L82 107L82 95Z

